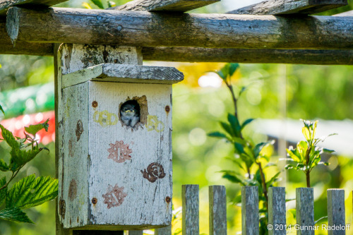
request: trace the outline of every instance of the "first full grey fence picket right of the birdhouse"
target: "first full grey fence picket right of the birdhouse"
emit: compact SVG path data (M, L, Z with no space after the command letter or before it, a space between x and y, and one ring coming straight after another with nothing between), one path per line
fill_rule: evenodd
M198 184L182 186L183 235L199 235L198 228Z

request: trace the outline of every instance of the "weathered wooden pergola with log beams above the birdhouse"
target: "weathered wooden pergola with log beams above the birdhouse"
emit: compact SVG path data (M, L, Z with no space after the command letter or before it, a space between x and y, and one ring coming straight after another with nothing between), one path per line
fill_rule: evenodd
M347 0L268 0L223 14L184 13L220 0L135 0L107 10L49 7L64 1L0 0L0 54L54 56L56 176L62 178L64 166L58 164L65 114L59 107L69 73L80 75L102 63L140 65L143 60L353 64L353 12L312 16L345 6ZM66 205L60 195L56 205L58 235L121 234L64 229ZM170 228L156 232L171 234Z

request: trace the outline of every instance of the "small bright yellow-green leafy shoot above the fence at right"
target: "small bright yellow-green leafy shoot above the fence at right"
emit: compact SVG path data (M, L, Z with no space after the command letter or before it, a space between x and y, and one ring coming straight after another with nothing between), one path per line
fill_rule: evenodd
M316 128L318 121L311 122L302 120L304 127L301 132L304 135L305 140L301 140L297 143L297 147L293 148L290 146L287 149L289 160L291 163L287 164L286 169L295 169L297 171L304 171L306 174L306 183L310 187L310 172L318 164L328 165L328 162L321 162L321 155L323 152L332 153L334 150L328 150L323 147L318 147L318 143L323 142L325 138L315 138ZM331 134L335 135L335 134Z

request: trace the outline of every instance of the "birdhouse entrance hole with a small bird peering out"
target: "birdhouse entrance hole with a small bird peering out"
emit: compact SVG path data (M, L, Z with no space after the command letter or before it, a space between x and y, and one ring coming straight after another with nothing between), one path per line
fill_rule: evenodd
M145 126L147 116L148 102L145 95L142 97L127 97L125 102L119 104L119 120L124 126L130 126L133 129L137 129L138 126Z

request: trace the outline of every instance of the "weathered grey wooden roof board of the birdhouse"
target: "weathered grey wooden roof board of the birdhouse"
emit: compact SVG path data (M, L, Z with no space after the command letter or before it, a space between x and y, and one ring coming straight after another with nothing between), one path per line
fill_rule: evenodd
M173 67L99 64L64 75L63 88L84 83L88 80L116 83L174 84L184 80L184 75Z

